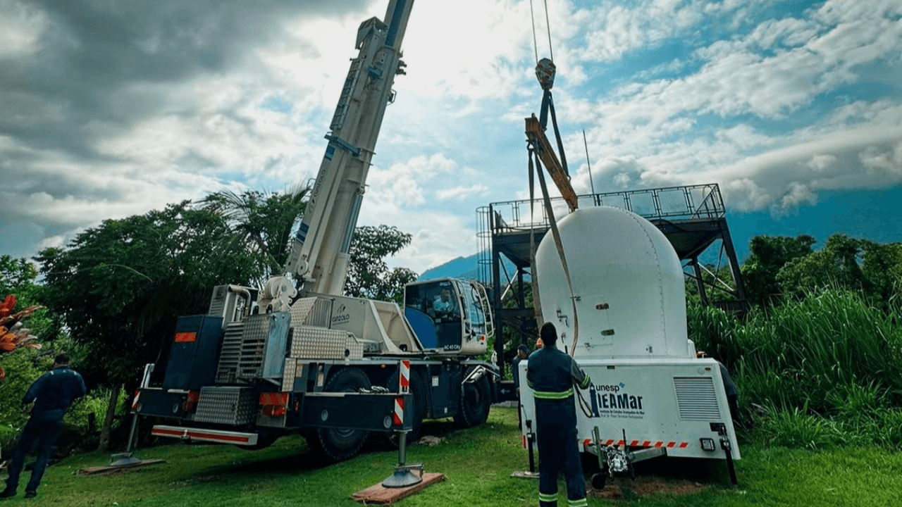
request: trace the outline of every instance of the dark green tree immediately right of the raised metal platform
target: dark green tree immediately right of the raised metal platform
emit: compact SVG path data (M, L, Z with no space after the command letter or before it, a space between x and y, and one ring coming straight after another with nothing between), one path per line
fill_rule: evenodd
M769 305L780 295L777 273L786 263L814 252L817 243L810 235L758 235L749 242L750 255L742 264L742 281L746 298L754 304Z

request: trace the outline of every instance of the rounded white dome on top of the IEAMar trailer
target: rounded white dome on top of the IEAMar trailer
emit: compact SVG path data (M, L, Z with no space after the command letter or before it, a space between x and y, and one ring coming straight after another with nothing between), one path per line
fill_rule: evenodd
M557 224L573 284L578 336L574 357L686 357L686 285L667 237L619 207L577 209ZM536 252L542 318L557 347L573 347L571 293L548 231Z

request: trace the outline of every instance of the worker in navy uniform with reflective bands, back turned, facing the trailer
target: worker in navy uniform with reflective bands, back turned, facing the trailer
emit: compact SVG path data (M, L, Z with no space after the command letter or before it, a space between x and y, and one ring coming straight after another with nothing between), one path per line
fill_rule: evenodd
M574 359L557 346L550 322L539 331L542 348L529 355L526 381L536 402L538 504L557 507L557 475L564 472L568 507L585 507L585 478L576 436L574 387L592 381Z

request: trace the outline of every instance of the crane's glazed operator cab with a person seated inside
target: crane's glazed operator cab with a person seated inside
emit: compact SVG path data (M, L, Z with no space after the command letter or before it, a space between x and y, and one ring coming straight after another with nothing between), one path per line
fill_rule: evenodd
M493 331L488 297L475 281L409 283L404 288L404 316L423 348L440 353L482 354Z

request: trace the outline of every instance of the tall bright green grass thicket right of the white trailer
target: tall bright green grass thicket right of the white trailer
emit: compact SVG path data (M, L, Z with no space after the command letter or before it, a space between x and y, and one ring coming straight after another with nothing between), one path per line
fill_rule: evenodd
M744 320L689 307L690 337L733 373L753 441L902 449L902 313L816 290Z

